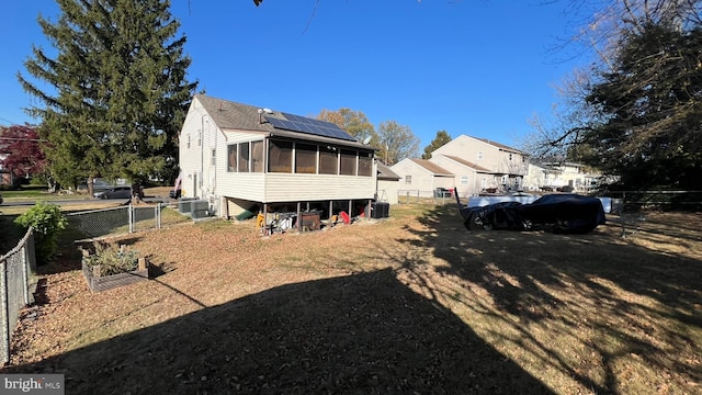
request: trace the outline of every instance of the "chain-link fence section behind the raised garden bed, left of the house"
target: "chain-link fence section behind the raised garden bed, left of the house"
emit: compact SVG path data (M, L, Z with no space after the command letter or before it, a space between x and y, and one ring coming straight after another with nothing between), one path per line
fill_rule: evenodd
M166 205L120 206L67 214L68 224L84 236L98 238L107 235L160 229L161 211Z

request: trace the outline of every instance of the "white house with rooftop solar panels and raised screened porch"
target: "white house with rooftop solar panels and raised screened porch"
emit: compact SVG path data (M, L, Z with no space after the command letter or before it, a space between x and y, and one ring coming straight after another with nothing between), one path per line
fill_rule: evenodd
M202 94L179 157L182 196L206 200L220 217L308 208L353 216L376 193L374 149L338 126Z

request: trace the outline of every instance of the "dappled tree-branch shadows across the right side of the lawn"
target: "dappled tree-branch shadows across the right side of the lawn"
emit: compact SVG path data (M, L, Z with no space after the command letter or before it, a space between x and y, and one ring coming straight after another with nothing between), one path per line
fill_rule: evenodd
M415 237L399 241L431 250L432 258L448 263L435 268L438 275L456 279L452 285L463 290L450 294L435 284L424 287L443 292L434 296L444 300L465 298L471 295L466 290L479 289L472 295L480 297L464 304L480 319L507 328L496 329L492 341L512 341L506 334L518 334L512 358L537 356L544 368L598 394L621 393L625 379L620 374L627 366L644 366L638 380L652 392L656 385L695 391L694 383L702 381L695 357L702 327L699 260L627 244L618 237L616 224L588 235L467 232L451 205L430 211L421 222L423 228L408 229ZM687 235L682 242L697 241L699 248L699 240ZM389 259L394 256L388 252ZM420 281L431 266L421 258L398 261ZM540 334L534 328L550 328ZM576 362L569 350L585 357ZM593 361L584 361L588 354Z

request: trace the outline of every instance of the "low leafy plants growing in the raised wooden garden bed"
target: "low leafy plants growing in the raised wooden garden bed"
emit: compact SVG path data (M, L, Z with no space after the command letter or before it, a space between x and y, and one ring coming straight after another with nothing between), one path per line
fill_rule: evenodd
M139 266L139 251L131 250L126 246L95 241L93 248L93 253L82 248L81 251L83 261L97 276L131 272ZM94 267L98 266L99 272L95 273Z

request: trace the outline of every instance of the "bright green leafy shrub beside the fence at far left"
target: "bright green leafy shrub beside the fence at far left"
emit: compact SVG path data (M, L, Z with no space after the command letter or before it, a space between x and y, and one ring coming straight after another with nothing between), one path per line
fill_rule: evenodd
M48 262L56 253L58 233L68 221L56 204L38 202L14 219L15 224L34 229L34 250L37 264Z

